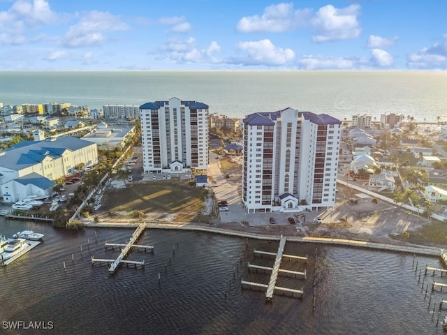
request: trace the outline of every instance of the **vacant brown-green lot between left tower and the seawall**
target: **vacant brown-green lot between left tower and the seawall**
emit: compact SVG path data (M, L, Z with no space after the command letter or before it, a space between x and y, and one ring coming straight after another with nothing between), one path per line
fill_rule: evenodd
M189 186L180 179L127 184L126 188L109 188L105 192L101 216L134 218L143 211L149 220L191 222L204 208L206 194L203 188Z

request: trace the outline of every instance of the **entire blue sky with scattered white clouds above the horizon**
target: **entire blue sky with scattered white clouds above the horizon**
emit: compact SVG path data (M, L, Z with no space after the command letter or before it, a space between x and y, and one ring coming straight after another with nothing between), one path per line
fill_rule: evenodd
M447 1L0 0L0 70L446 70Z

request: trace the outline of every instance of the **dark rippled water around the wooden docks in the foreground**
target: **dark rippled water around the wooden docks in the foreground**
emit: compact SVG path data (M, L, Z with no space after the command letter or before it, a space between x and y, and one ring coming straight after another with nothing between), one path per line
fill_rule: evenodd
M285 253L309 255L309 262L284 260L281 268L306 270L307 278L279 276L277 285L304 296L275 295L265 304L263 292L242 290L240 281L268 283L269 275L249 272L247 262L271 267L274 260L254 258L254 249L276 252L278 242L146 230L138 243L154 253L129 254L145 260L145 270L122 267L109 276L107 266L91 267L90 257L115 258L118 251L105 251L104 242L123 243L131 229L66 232L4 220L0 227L7 235L25 228L45 234L41 245L0 268L0 334L443 334L442 294L430 301L425 288L447 278L419 277L426 264L441 266L437 258L288 242ZM8 321L51 322L53 329L5 329Z

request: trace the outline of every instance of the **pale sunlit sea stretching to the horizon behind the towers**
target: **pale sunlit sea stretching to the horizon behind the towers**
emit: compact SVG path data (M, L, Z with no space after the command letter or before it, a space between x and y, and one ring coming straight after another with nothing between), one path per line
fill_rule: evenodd
M351 119L396 112L447 121L447 73L391 71L1 72L3 104L141 105L177 97L244 117L293 107Z

